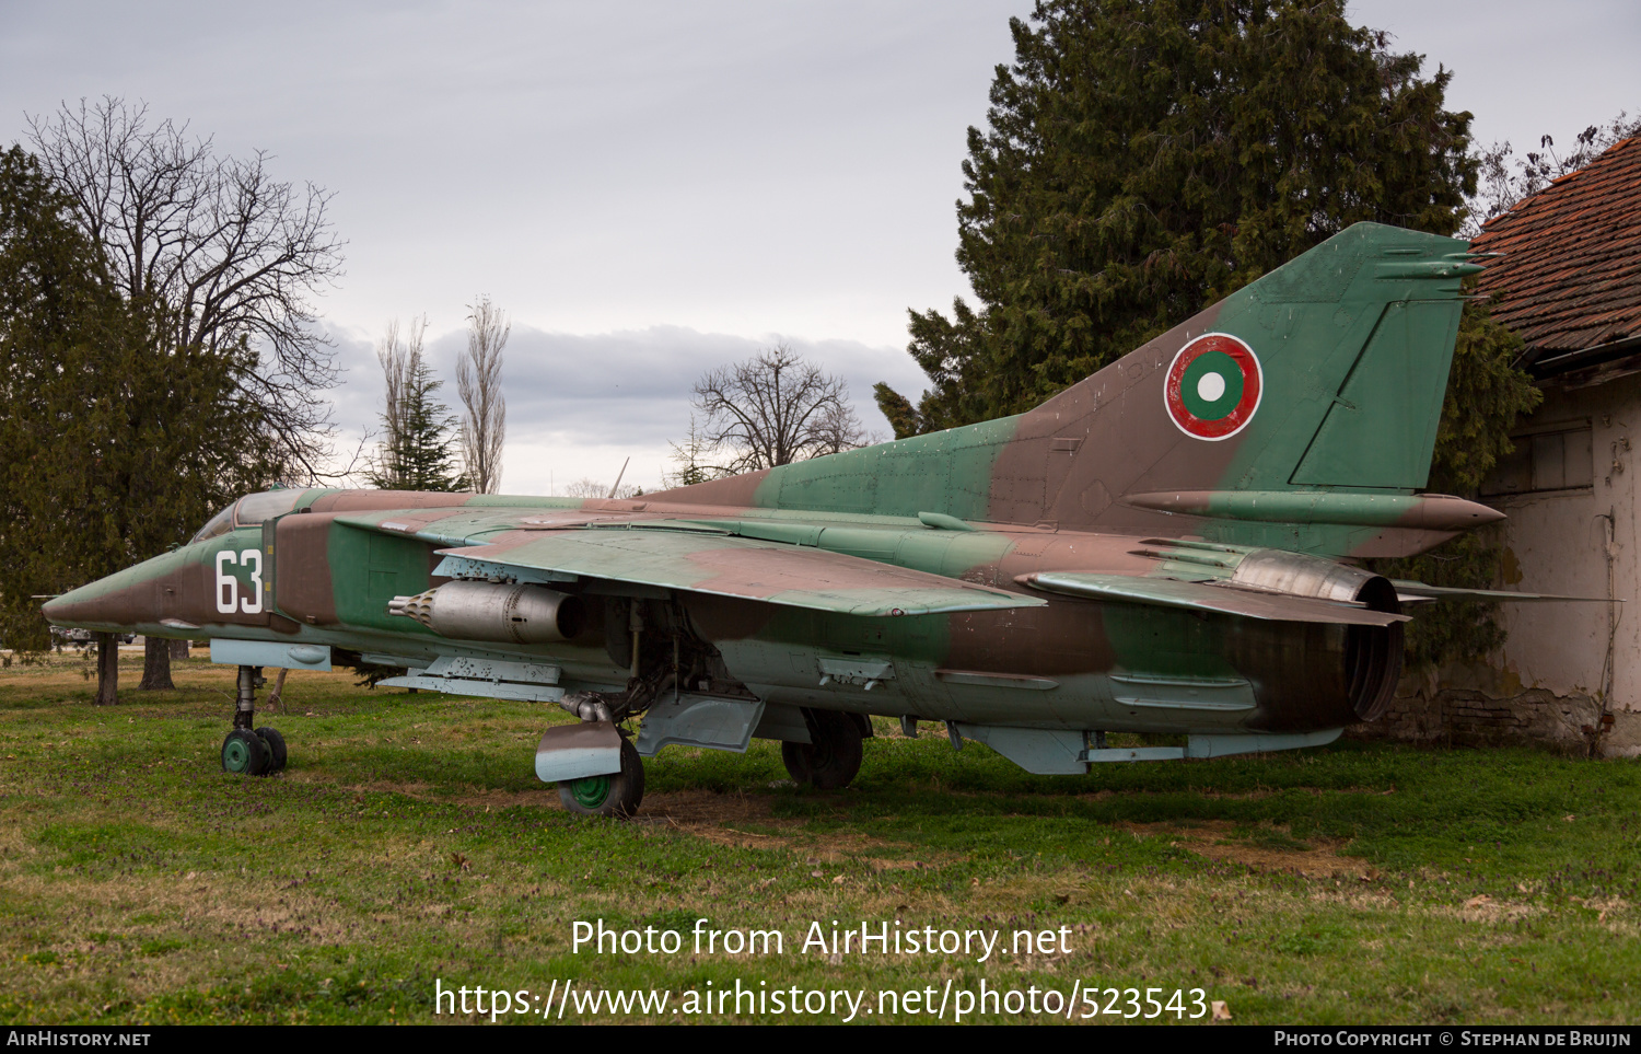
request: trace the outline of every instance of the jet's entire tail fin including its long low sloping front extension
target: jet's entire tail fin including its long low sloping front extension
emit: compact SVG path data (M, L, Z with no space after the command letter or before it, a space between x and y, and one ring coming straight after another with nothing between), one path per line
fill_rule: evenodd
M1410 496L1429 474L1459 279L1479 269L1467 250L1357 223L1035 410L788 465L722 499L1145 534L1180 534L1167 514L1188 512L1213 522L1186 530L1223 542L1426 548L1439 537L1362 543L1375 525L1451 534L1465 514Z

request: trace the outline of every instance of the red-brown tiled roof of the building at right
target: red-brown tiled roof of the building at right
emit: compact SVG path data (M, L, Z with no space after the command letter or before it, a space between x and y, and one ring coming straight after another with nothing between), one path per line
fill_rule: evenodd
M1503 253L1479 284L1528 360L1641 333L1641 136L1623 140L1510 212L1470 246Z

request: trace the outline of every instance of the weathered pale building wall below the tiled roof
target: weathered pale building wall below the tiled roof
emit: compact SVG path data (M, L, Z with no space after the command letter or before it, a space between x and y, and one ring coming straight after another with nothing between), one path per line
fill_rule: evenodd
M1485 663L1403 678L1382 731L1419 742L1529 740L1638 757L1641 374L1549 389L1521 432L1516 458L1490 489L1523 493L1483 497L1510 517L1490 529L1505 542L1497 588L1630 603L1503 604L1503 648Z

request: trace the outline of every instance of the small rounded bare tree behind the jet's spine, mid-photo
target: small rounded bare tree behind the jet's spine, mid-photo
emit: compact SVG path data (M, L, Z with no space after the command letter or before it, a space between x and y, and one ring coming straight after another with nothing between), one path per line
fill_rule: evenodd
M711 371L694 387L701 443L722 470L745 473L866 445L848 384L804 361L791 345Z

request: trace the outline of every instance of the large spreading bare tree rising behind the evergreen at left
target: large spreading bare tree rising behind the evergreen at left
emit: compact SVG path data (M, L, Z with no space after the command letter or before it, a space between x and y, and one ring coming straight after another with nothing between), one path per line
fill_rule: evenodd
M312 297L341 274L330 194L274 179L263 151L218 158L185 123L149 126L148 107L123 99L64 103L28 125L125 296L171 310L177 353L254 350L256 368L236 376L243 397L263 409L287 465L322 474L322 392L336 368Z

